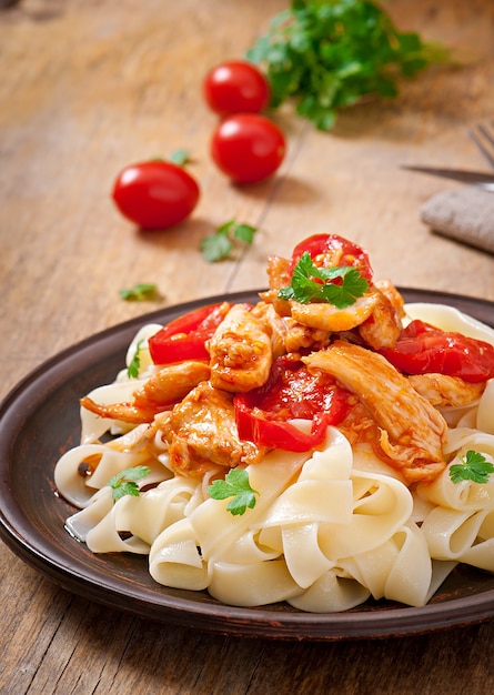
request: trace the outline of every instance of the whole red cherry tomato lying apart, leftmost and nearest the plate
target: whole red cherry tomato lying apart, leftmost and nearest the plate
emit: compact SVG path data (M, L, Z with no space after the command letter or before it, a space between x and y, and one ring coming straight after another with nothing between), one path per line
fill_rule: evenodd
M120 212L142 229L167 229L195 208L195 180L172 162L150 161L127 167L117 177L112 198Z

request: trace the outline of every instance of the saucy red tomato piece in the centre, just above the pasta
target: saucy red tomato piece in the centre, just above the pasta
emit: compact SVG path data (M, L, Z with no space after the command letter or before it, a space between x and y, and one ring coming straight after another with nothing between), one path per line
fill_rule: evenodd
M311 374L304 364L279 357L268 383L233 399L239 436L260 446L310 451L324 440L326 427L349 411L349 393L329 375ZM288 420L312 420L310 434Z

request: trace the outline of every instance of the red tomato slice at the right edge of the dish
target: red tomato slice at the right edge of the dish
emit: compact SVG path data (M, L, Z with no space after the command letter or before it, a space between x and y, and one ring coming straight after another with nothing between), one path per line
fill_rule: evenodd
M405 374L446 374L477 383L494 377L494 348L461 333L412 321L393 349L380 351Z

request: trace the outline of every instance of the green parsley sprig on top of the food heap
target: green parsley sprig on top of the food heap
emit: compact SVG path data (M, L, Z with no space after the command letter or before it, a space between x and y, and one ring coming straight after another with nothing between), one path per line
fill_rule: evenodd
M356 268L317 268L312 262L311 254L305 251L293 270L291 284L282 288L278 296L282 300L295 300L301 304L326 302L336 309L345 309L367 290L369 282Z

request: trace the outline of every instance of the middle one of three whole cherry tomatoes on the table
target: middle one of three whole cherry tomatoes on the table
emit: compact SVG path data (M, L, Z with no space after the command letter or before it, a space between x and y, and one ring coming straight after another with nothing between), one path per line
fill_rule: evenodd
M281 130L259 113L238 113L213 133L211 157L235 183L262 181L282 163L286 144Z

